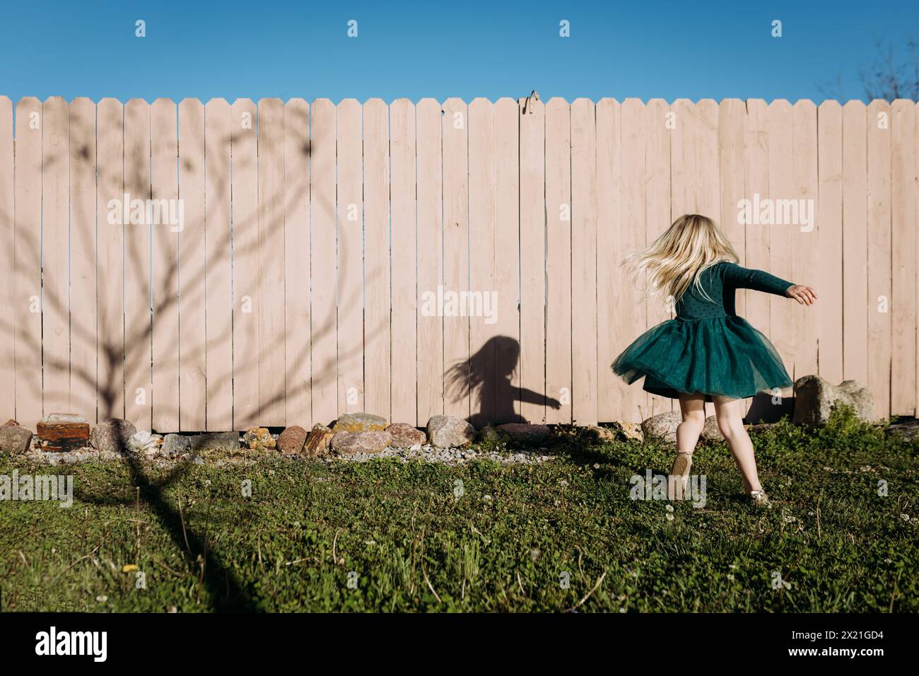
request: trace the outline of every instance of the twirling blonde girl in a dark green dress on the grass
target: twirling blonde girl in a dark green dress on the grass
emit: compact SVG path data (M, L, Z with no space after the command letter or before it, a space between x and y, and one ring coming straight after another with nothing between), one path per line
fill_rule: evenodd
M737 316L734 291L775 293L803 305L812 304L817 294L809 286L741 268L737 260L727 237L698 214L680 216L651 246L626 258L636 273L647 273L650 286L673 296L676 318L642 334L612 369L629 384L644 377L645 391L680 400L683 422L676 428L670 475L684 490L705 425L705 403L714 402L718 429L743 475L743 489L754 505L763 505L769 498L743 429L741 400L792 383L769 339Z

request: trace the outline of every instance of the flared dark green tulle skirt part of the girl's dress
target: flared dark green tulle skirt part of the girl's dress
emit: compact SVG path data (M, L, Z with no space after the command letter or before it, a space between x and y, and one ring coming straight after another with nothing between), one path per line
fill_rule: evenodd
M641 334L612 364L628 384L644 378L652 395L754 396L790 387L776 348L743 317L668 319Z

